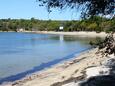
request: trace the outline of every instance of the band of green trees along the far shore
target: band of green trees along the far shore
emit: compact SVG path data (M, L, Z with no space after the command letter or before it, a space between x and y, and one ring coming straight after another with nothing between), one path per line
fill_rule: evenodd
M57 21L31 19L0 19L0 31L17 31L24 29L27 31L59 31L63 26L63 31L96 31L115 32L115 17L112 19L93 16L89 19Z

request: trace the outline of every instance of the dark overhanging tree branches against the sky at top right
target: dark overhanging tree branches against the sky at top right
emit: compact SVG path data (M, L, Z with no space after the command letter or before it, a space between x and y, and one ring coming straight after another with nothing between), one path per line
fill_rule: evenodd
M81 9L81 16L87 18L93 15L114 14L114 0L37 0L40 6L46 6L48 11L51 8L71 8Z

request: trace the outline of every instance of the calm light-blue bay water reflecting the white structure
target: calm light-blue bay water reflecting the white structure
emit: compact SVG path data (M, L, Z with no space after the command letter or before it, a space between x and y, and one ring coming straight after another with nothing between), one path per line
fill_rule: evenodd
M0 79L80 53L90 48L90 40L76 36L0 32Z

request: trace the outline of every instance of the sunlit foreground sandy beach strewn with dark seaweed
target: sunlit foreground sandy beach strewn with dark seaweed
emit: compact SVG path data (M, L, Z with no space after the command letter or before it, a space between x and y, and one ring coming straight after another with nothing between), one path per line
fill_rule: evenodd
M62 86L57 83L68 83L72 80L82 80L86 68L100 66L107 57L97 53L98 49L92 49L81 53L75 59L57 64L51 68L28 75L25 78L9 82L2 86Z

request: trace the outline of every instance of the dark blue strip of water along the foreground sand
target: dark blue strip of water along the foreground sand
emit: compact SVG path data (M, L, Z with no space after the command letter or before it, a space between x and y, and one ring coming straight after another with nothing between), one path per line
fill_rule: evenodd
M61 59L55 59L55 60L50 61L48 63L42 63L41 65L33 67L33 69L27 70L25 72L22 72L22 73L19 73L19 74L16 74L16 75L11 75L9 77L2 78L2 79L0 79L0 84L2 84L3 82L13 82L13 81L16 81L16 80L20 80L20 79L24 78L27 75L30 75L30 74L35 73L37 71L41 71L41 70L43 70L45 68L49 68L49 67L51 67L53 65L56 65L56 64L60 63L61 61L65 61L65 60L74 58L76 54L80 54L80 53L85 52L85 51L90 50L90 49L92 49L92 47L84 49L84 50L81 50L79 52L74 52L74 53L72 53L72 54L70 54L68 56L65 56L65 57L61 58Z

